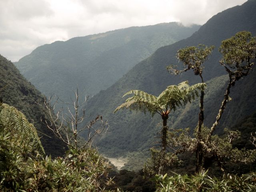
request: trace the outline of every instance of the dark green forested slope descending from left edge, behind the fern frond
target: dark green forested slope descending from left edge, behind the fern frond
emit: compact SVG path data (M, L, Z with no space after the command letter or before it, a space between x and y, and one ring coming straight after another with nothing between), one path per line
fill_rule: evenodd
M44 113L36 102L43 100L42 94L28 82L12 62L0 55L0 98L4 103L14 106L37 128L38 136L46 154L62 156L64 147L52 132L41 124Z

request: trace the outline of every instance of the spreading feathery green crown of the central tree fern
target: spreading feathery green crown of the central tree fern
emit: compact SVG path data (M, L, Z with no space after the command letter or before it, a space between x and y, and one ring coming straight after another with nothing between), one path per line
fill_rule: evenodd
M134 96L126 99L126 101L116 108L116 111L121 108L129 108L130 110L150 112L154 114L169 114L171 110L176 110L177 107L191 102L198 96L198 90L204 90L205 83L198 83L193 86L188 85L188 81L184 81L178 86L168 86L158 97L148 94L141 90L130 90L124 96L134 94ZM124 97L123 96L123 97Z

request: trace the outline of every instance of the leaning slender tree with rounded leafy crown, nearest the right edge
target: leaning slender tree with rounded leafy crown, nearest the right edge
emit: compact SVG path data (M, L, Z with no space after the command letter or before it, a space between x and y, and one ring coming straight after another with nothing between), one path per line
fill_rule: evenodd
M226 104L230 100L231 86L234 86L236 81L247 76L252 70L253 60L256 57L256 37L252 37L252 34L248 31L238 32L235 36L222 41L219 51L223 54L220 64L228 72L229 82L216 121L210 129L207 142L209 142Z

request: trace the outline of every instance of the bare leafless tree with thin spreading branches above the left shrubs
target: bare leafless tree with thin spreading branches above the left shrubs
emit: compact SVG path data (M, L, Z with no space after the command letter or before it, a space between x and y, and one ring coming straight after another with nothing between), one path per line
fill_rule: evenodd
M90 147L95 136L102 136L107 133L109 124L104 121L102 116L97 115L93 120L88 120L91 115L86 114L84 104L88 101L85 96L80 102L78 88L74 91L72 102L64 102L56 96L44 98L44 113L46 118L41 121L47 128L54 133L54 136L62 140L69 148L80 151ZM62 108L56 110L56 104L62 104ZM66 105L66 108L63 107ZM78 134L86 132L86 141L84 144L78 144Z

